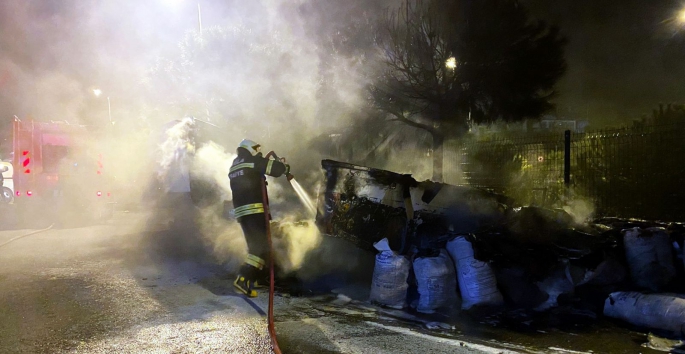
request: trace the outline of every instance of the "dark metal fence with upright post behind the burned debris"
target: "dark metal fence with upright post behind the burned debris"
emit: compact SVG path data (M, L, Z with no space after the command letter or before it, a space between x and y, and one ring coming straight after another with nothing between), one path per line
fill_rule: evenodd
M524 205L585 201L596 216L685 221L685 120L450 142L445 182Z

